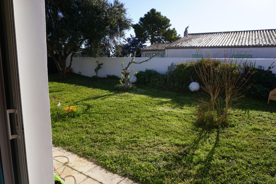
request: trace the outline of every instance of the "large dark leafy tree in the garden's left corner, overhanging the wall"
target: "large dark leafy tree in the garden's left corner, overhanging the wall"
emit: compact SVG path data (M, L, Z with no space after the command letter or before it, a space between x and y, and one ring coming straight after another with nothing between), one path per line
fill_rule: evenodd
M118 0L45 0L48 55L61 78L74 54L85 48L92 57L108 52L130 29L132 20ZM70 65L65 66L71 55Z

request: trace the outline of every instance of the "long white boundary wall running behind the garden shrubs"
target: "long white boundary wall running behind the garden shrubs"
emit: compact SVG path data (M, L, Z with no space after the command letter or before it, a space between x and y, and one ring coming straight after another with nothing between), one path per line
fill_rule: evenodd
M69 65L69 58L67 58L67 66ZM102 68L98 71L98 77L106 77L107 75L116 75L121 77L121 63L124 62L124 67L127 66L128 62L131 61L132 58L96 58L93 59L91 57L74 57L72 62L72 72L79 73L81 75L91 77L96 75L94 69L97 66L96 61L99 63L103 63ZM135 58L136 62L144 61L146 58ZM148 62L135 64L132 63L129 67L130 70L133 69L135 71L145 71L147 69L154 69L159 73L164 74L167 71L167 68L171 63L180 63L180 62L187 62L189 60L196 61L195 58L152 58ZM222 59L223 60L223 59ZM254 63L256 61L256 67L261 65L264 66L264 69L267 69L271 63L273 63L276 59L243 59L242 62L247 61L247 63ZM276 63L276 62L275 62ZM272 69L273 73L276 74L276 67ZM133 73L132 72L132 73ZM130 76L132 80L132 75ZM134 79L135 80L135 79Z

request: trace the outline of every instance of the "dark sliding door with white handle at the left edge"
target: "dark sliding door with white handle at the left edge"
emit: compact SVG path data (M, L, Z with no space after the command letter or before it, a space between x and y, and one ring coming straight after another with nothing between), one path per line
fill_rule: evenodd
M5 184L25 184L28 178L25 162L24 136L22 135L23 126L21 122L15 52L16 40L13 32L12 8L11 0L0 1L0 101L3 101L3 103L0 103L1 106L3 105L3 107L0 108L2 111L0 112L0 117L4 119L0 120L0 146L2 151L0 156L2 157L1 165L3 165L3 167L1 167L4 168L1 168L0 173L3 175L2 178ZM6 114L8 109L17 109L17 114ZM10 124L8 120L10 120ZM10 140L9 135L20 136ZM6 140L4 141L3 138ZM5 155L3 156L3 154ZM10 169L7 169L7 167Z

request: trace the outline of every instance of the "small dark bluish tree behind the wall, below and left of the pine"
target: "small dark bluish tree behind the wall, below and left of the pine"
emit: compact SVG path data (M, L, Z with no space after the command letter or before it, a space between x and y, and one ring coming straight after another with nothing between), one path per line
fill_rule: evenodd
M113 57L141 57L141 48L146 47L141 38L130 35L125 39L125 44L119 46Z

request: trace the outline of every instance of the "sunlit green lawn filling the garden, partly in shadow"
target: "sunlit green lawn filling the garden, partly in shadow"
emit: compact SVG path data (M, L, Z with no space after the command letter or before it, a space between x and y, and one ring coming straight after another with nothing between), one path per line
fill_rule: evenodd
M195 126L194 94L49 75L53 144L141 183L276 183L276 103L242 99L230 126ZM56 118L74 105L76 116Z

